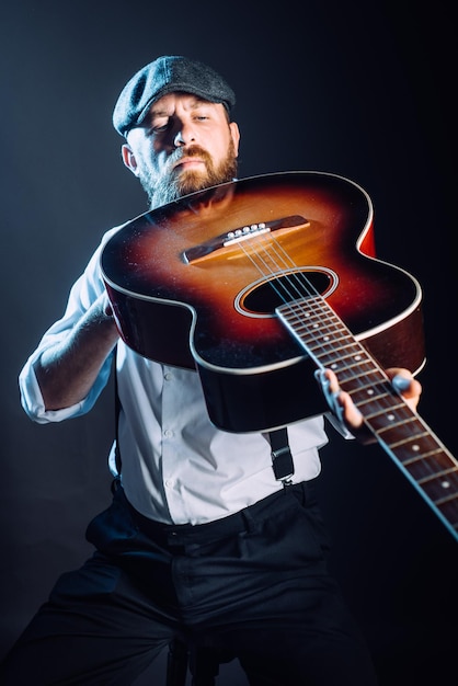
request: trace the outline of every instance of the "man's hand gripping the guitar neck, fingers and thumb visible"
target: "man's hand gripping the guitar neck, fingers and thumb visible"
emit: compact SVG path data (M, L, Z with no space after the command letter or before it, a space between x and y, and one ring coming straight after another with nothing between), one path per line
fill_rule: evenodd
M393 387L401 393L412 410L415 410L422 385L413 378L409 369L402 367L391 367L386 369ZM363 415L354 404L350 393L343 391L339 386L339 379L331 369L317 373L317 378L321 384L328 404L336 418L360 443L374 442L371 432L363 423Z

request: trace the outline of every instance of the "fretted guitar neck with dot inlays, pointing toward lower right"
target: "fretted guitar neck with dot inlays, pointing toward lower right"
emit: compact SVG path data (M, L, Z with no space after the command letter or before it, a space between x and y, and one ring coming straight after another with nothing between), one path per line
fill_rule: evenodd
M458 461L394 391L374 357L321 297L282 305L277 315L319 368L339 376L364 422L458 540Z

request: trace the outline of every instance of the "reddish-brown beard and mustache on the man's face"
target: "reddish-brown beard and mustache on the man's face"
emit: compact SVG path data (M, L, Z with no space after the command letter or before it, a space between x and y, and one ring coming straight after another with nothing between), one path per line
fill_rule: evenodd
M182 157L198 157L205 163L205 171L191 169L176 174L173 164ZM151 173L149 168L139 169L138 179L148 195L149 208L154 209L167 203L171 203L196 191L203 191L210 186L232 181L237 175L237 157L233 141L230 141L228 153L217 167L211 157L199 146L180 148L173 152L164 171L160 174Z

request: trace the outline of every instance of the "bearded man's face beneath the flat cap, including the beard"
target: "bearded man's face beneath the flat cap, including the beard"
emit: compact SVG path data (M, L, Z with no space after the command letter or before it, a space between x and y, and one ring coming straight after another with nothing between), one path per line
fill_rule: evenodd
M158 207L237 174L239 129L224 105L187 93L163 95L127 134L124 163Z

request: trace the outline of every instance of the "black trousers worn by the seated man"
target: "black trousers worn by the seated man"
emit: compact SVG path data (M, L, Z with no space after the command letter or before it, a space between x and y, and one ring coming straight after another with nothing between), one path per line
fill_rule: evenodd
M0 670L3 686L130 686L175 636L230 651L252 686L373 686L325 567L312 483L199 526L146 519L119 488Z

